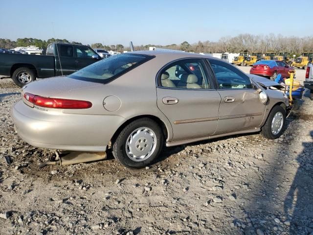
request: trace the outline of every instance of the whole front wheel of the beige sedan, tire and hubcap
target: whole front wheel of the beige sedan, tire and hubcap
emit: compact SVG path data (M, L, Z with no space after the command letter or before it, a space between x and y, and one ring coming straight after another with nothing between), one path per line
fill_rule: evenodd
M286 110L280 105L274 106L261 128L262 135L269 140L279 138L285 130L285 123Z

